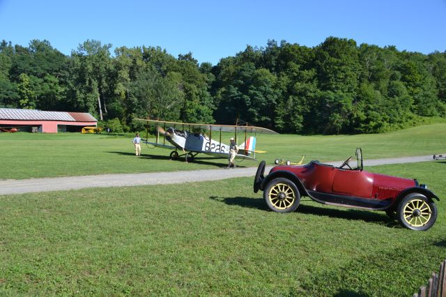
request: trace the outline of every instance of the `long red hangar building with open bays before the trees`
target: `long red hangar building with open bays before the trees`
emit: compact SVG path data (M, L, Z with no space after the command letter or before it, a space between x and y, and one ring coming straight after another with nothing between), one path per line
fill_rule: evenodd
M36 109L0 108L0 128L14 127L28 132L80 132L96 126L98 120L85 112L44 112Z

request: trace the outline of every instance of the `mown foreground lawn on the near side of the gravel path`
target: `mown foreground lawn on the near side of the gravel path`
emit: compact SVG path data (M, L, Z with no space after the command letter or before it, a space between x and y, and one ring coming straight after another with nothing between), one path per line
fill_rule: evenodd
M411 296L446 259L446 162L369 169L427 183L436 224L272 213L252 178L0 196L0 295Z

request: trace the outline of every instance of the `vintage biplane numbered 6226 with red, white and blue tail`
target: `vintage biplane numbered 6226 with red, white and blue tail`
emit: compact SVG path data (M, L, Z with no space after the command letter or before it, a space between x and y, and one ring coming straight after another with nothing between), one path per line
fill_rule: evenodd
M192 160L199 153L227 157L229 145L222 142L222 132L233 133L235 142L238 142L240 133L243 134L243 144L238 145L237 159L256 160L256 134L278 134L275 131L252 125L217 125L202 123L179 123L171 121L157 121L151 119L134 119L146 122L147 135L143 142L155 147L171 149L170 157L177 159L185 156L185 160ZM149 141L148 131L155 128L155 139ZM207 134L208 133L208 134ZM254 136L249 136L252 135ZM178 153L183 152L182 154Z

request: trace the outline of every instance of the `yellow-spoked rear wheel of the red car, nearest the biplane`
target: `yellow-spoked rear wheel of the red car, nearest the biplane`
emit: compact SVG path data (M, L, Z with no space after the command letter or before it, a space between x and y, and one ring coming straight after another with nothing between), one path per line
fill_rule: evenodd
M298 208L300 194L295 184L287 178L275 178L263 189L263 199L277 213L291 213Z

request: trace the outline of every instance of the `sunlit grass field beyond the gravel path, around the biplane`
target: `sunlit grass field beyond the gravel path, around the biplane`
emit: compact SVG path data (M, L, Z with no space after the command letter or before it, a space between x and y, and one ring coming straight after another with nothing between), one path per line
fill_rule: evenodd
M232 135L224 135L229 139ZM116 174L138 172L168 172L218 168L226 160L197 155L194 162L169 160L169 150L142 148L141 157L134 156L128 137L114 135L82 135L61 133L42 135L31 133L0 133L0 178L39 178ZM408 155L446 153L446 124L424 125L378 135L257 135L259 160L272 164L275 158L305 161L345 160L355 148L362 147L364 159L390 158ZM239 166L257 166L243 161Z

